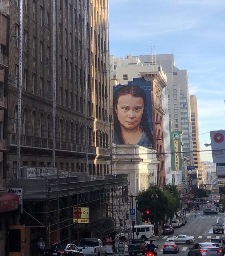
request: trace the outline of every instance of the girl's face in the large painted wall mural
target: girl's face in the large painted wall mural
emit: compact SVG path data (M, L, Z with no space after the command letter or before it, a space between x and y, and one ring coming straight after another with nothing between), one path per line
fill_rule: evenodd
M141 123L143 111L143 99L133 97L131 94L120 96L115 106L120 125L126 129L133 129Z

